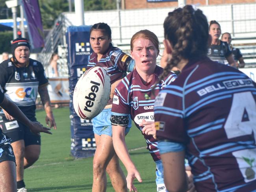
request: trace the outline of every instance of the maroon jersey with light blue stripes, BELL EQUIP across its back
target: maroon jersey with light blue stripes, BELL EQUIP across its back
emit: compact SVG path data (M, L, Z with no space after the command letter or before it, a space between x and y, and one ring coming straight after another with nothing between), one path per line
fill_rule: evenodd
M190 61L154 105L157 137L185 146L197 191L256 189L256 84L207 57Z

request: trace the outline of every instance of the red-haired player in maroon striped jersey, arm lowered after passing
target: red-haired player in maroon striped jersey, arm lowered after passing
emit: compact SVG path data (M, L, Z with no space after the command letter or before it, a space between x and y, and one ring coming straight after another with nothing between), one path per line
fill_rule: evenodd
M154 33L141 30L135 33L131 39L131 55L135 60L135 70L115 89L112 105L111 124L113 131L113 144L118 157L123 162L128 175L126 177L128 189L137 191L133 180L137 177L142 182L139 172L132 162L124 140L126 126L131 122L131 116L135 125L141 130L146 139L147 149L156 163L156 185L158 192L165 191L163 182L163 165L160 159L158 142L152 136L154 129L154 101L158 92L169 85L176 75L172 72L157 84L158 77L163 69L156 65L160 44ZM152 93L154 89L154 94ZM184 161L183 161L184 162Z

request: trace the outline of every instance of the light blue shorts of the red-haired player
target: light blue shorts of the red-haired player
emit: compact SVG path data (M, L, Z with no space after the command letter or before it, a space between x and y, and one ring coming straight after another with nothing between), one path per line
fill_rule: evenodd
M156 163L156 191L157 192L168 192L165 188L163 181L163 163L162 160L155 161Z

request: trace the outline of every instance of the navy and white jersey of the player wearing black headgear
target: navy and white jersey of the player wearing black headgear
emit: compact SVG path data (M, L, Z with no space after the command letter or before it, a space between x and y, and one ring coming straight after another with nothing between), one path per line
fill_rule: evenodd
M48 79L45 76L43 65L34 59L24 67L17 67L8 59L0 64L0 85L5 94L28 117L35 117L35 100L38 87L46 85Z

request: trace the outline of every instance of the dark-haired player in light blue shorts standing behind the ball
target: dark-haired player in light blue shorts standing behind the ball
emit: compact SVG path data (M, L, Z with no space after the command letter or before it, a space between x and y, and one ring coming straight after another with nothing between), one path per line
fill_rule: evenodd
M134 68L134 61L119 48L111 44L111 29L106 23L94 24L90 31L90 44L93 53L89 55L88 69L103 67L111 80L111 93L105 109L93 118L93 131L96 151L93 158L93 192L104 192L107 188L106 171L116 192L127 191L126 181L112 142L110 122L113 92L115 86ZM127 126L129 131L131 124Z

